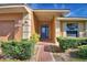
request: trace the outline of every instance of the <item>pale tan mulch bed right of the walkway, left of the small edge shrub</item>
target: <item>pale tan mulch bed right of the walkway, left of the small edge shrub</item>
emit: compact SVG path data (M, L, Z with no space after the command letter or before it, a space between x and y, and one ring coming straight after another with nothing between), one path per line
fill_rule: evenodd
M75 51L77 51L77 48L69 48L64 53L53 53L53 56L56 62L70 62L72 58L76 57Z

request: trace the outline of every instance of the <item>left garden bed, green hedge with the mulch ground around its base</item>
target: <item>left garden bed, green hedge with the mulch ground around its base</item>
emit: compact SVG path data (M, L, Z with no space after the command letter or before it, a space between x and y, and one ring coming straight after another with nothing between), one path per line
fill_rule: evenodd
M22 40L0 42L0 61L30 61L34 55L35 42L33 40Z

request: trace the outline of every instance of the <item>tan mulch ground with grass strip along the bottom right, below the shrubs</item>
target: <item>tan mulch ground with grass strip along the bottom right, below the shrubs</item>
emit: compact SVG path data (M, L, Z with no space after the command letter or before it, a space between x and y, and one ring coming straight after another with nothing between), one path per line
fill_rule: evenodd
M76 56L72 51L64 53L53 53L55 62L87 62L87 58Z

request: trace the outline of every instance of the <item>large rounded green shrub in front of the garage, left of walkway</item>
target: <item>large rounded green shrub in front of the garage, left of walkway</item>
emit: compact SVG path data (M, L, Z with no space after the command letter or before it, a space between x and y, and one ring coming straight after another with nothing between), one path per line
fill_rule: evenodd
M17 59L30 58L34 50L33 41L23 40L21 42L9 41L1 44L2 52L6 56L11 56Z

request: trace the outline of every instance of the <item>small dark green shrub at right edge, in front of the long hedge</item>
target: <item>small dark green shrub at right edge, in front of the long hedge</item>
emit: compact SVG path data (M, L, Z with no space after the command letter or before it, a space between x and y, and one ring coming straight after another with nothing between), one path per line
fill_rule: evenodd
M87 45L78 46L76 54L81 58L87 58Z

